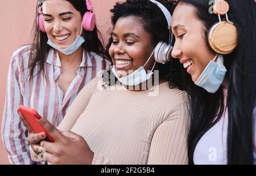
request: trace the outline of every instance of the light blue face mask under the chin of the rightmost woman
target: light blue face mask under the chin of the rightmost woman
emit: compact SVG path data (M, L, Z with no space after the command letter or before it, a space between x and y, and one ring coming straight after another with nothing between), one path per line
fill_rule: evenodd
M218 55L216 62L210 61L195 84L204 88L209 93L215 93L220 88L226 74L223 62L222 55Z

